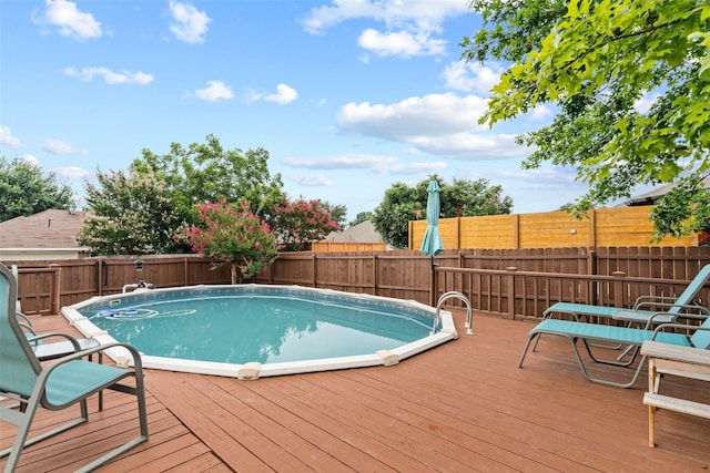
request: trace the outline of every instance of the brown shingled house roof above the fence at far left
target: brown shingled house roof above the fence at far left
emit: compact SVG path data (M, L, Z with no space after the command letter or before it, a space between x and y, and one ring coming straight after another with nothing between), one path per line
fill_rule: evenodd
M50 209L0 223L0 248L77 248L83 212Z

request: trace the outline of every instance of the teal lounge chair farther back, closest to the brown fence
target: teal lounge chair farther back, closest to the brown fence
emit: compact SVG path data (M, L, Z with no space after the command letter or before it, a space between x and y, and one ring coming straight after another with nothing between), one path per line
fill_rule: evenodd
M710 265L703 266L678 298L641 296L636 300L631 309L575 302L556 302L542 312L542 319L551 318L555 313L568 313L574 316L576 320L580 318L589 319L590 317L602 319L619 318L620 320L632 321L650 328L658 323L674 322L682 312L690 311L710 315L704 307L693 304L698 292L700 292L700 289L702 289L708 279L710 279Z

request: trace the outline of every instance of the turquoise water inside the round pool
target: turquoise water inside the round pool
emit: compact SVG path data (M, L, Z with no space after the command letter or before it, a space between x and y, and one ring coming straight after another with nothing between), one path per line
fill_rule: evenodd
M273 363L388 350L428 336L432 319L300 295L178 295L82 311L145 354Z

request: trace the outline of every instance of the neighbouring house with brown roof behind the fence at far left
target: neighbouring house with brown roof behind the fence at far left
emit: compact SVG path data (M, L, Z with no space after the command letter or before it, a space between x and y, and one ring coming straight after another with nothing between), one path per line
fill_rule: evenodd
M0 260L78 259L89 248L77 243L83 212L44 210L0 223Z

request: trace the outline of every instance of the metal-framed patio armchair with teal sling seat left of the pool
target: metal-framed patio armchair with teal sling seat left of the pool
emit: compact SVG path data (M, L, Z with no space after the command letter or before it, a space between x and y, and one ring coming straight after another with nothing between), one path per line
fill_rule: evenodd
M140 433L128 443L94 460L79 471L91 471L111 461L118 455L148 440L148 414L143 388L141 357L131 346L109 343L81 350L75 353L40 364L30 341L20 327L16 315L17 280L10 270L0 265L0 395L20 403L0 405L0 420L18 426L14 444L0 452L0 457L9 455L6 473L14 471L22 449L45 440L58 433L82 424L89 420L87 398L104 389L111 389L136 397ZM99 353L106 348L121 347L133 357L134 369L94 363L83 358ZM133 378L133 383L122 383ZM54 430L28 440L32 420L38 408L59 411L79 404L81 417Z

